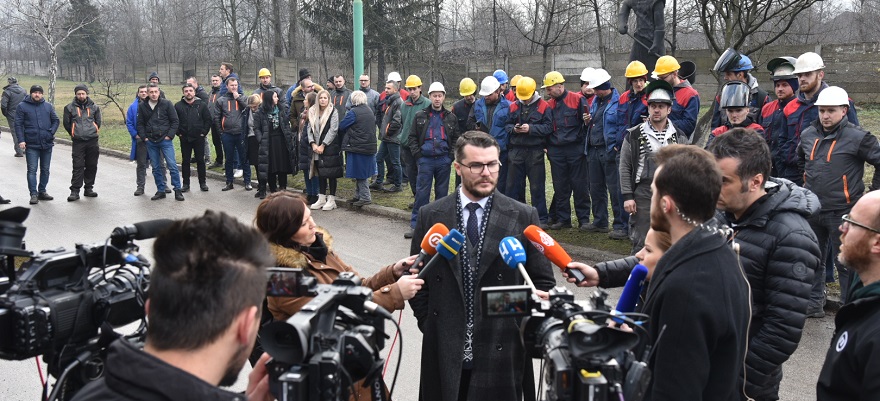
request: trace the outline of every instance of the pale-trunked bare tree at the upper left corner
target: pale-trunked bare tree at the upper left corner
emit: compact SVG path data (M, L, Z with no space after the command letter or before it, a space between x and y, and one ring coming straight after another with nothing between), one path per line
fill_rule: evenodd
M100 13L71 20L70 2L51 0L11 0L10 18L15 28L35 35L49 52L49 97L55 102L59 46L74 32L95 22Z

